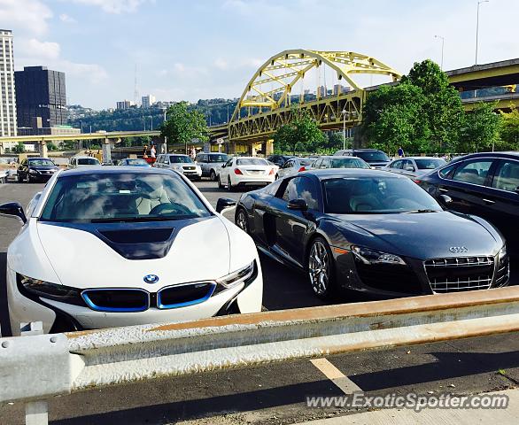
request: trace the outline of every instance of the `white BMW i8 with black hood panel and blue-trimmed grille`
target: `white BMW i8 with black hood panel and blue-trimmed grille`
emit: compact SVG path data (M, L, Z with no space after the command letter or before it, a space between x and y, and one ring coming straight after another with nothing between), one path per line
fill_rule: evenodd
M263 280L250 236L169 170L96 167L60 171L7 251L13 335L190 321L260 312Z

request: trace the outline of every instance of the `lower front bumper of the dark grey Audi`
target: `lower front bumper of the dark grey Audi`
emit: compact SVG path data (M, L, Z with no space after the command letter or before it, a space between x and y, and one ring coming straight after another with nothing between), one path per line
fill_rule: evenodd
M364 265L353 258L351 253L334 252L337 265L337 282L347 290L358 291L368 298L400 298L435 293L458 292L464 290L483 290L507 286L509 281L509 259L493 257L492 277L489 287L483 287L472 281L474 287L468 287L467 278L462 277L461 267L452 268L452 276L447 275L445 282L434 284L434 277L428 273L422 259L403 258L407 266L399 265ZM447 273L450 273L448 271ZM461 275L460 275L461 274ZM433 290L435 288L436 290Z

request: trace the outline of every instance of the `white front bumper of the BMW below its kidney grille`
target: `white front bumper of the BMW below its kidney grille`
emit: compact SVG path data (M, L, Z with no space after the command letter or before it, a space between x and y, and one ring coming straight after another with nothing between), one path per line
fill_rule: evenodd
M47 298L37 301L20 293L16 284L16 273L7 271L7 298L12 335L19 335L22 323L43 321L43 331L60 332L70 328L96 329L120 326L143 325L169 321L196 321L222 313L257 313L261 311L263 277L259 259L258 271L252 282L244 282L229 290L213 295L205 302L171 309L151 307L143 312L114 313L99 312L88 306L72 305ZM60 328L63 322L66 328Z

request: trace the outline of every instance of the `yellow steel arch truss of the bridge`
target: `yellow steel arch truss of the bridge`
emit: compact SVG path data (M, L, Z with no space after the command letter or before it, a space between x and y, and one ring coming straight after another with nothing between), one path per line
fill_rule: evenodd
M306 73L321 66L337 73L337 81L345 81L350 90L332 96L322 96L317 88L316 99L299 97L298 106L324 130L352 128L361 120L366 91L355 77L377 74L398 81L401 75L376 58L352 51L284 50L269 58L249 81L229 122L229 141L260 142L290 122L293 104L292 89ZM265 87L267 86L267 89ZM269 86L269 87L268 87ZM245 116L243 112L245 111Z

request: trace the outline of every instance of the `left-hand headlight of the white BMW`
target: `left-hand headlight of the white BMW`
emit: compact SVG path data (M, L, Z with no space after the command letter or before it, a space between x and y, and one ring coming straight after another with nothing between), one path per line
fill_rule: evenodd
M81 298L81 290L70 286L45 282L40 279L17 274L19 291L27 298L48 298L61 303L85 305ZM37 299L36 299L37 300Z

